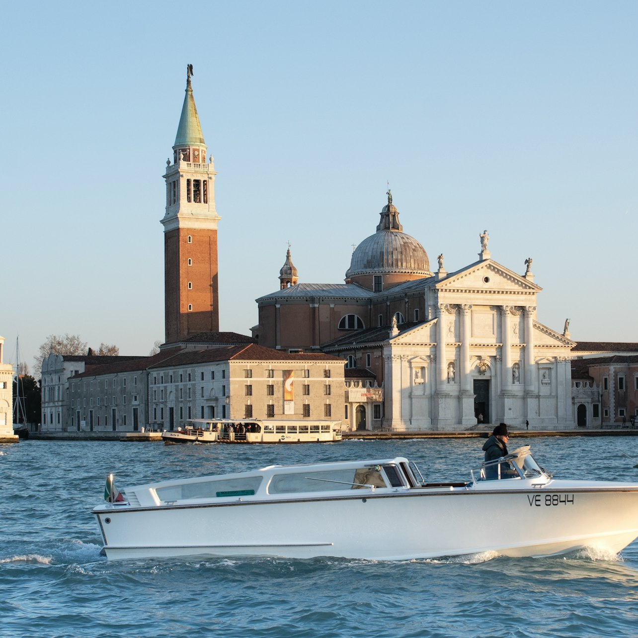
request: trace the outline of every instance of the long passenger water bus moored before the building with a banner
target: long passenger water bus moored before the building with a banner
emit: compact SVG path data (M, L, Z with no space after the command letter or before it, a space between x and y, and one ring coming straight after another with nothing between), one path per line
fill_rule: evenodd
M184 429L164 430L174 443L329 443L341 441L341 421L191 419Z

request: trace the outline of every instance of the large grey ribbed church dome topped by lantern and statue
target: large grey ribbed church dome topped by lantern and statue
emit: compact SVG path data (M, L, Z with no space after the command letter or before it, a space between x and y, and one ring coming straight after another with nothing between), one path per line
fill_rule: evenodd
M366 237L352 253L346 279L360 275L406 273L430 277L430 262L423 246L403 232L399 211L388 195L388 204L381 211L376 233Z

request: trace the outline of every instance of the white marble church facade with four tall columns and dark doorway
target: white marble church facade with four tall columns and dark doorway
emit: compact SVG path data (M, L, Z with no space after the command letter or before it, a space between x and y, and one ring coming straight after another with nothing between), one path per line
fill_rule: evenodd
M531 272L482 255L427 287L429 320L383 345L383 427L574 427L574 342L537 321Z

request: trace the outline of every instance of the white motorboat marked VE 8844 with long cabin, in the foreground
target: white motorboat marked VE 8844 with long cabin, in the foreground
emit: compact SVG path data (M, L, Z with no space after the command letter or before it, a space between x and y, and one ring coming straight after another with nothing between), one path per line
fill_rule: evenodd
M92 512L110 559L547 556L582 547L616 553L638 537L638 484L553 479L529 446L470 477L426 482L404 457L271 465L122 494L111 486L114 502Z

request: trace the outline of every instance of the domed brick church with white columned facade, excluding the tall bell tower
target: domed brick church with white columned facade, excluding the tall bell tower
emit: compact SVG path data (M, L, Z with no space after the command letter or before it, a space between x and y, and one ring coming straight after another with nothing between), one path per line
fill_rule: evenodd
M345 283L293 283L288 251L279 290L257 299L253 336L278 350L338 355L346 367L371 373L378 390L349 390L357 429L520 427L526 420L573 427L575 343L538 322L542 288L531 259L517 274L492 260L488 239L480 234L478 261L449 273L439 255L433 273L388 192L376 233L353 251Z

